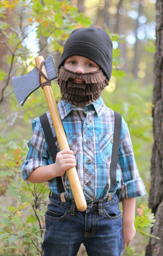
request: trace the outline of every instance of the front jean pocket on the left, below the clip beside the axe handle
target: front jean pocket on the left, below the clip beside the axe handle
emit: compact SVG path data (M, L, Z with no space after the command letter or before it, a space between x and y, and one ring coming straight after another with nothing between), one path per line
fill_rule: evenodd
M69 210L60 205L50 203L45 213L45 218L49 220L64 220L69 214Z

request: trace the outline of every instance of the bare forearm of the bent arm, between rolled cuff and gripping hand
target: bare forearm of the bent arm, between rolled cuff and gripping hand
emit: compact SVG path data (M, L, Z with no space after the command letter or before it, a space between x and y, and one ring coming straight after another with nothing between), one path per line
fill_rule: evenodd
M57 177L55 174L55 164L49 164L35 169L28 177L28 181L32 183L42 183L55 177Z

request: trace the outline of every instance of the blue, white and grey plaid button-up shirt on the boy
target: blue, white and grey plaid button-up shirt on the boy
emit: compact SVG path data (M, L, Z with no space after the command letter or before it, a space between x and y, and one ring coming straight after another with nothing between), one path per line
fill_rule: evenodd
M110 188L109 170L114 132L114 111L105 106L101 97L84 109L76 108L74 105L60 100L58 110L69 147L73 150L77 160L76 169L86 200L93 201L107 196ZM47 116L59 151L49 112L47 112ZM30 173L39 166L53 163L39 118L33 120L32 129L33 136L28 142L29 152L22 164L24 180L27 180ZM62 176L62 181L67 197L73 198L66 172ZM58 195L55 178L49 181L49 188ZM114 191L119 199L146 194L135 162L128 127L123 117Z

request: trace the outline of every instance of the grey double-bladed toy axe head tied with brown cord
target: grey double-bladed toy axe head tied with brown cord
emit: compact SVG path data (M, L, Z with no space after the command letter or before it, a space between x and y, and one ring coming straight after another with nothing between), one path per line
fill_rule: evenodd
M57 73L52 57L48 57L45 60L44 66L49 80L57 78ZM23 106L28 96L40 87L39 75L36 68L24 76L13 76L12 84L14 87L15 96L19 104Z

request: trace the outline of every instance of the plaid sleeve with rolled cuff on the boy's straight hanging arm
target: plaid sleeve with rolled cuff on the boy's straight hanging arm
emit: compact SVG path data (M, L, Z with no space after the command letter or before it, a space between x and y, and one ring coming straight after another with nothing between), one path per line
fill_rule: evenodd
M118 192L118 197L144 196L146 190L143 180L139 175L127 124L124 136L120 141L118 164L122 171L121 188Z

